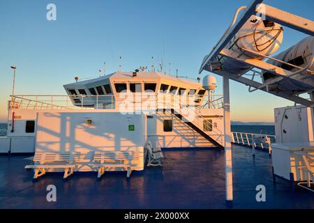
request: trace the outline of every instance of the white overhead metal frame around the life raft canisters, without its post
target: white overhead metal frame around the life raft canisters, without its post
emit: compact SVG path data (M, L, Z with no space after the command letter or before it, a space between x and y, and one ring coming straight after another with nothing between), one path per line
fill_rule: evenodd
M301 93L311 93L311 91L314 91L314 79L306 78L304 77L303 74L301 74L301 72L312 73L313 70L308 70L310 66L306 66L306 68L298 67L298 69L300 70L297 70L297 72L291 72L289 70L285 70L278 66L271 65L270 63L267 63L261 60L239 59L239 54L237 52L232 52L230 49L225 48L227 43L229 43L230 40L232 40L234 35L239 31L239 29L241 29L241 27L248 20L248 18L251 17L251 15L257 15L257 14L264 16L267 20L271 20L283 26L290 27L291 29L301 31L308 35L314 36L314 22L312 20L307 20L303 17L299 17L292 13L287 13L278 8L268 6L262 2L263 0L252 1L251 4L248 7L246 7L246 9L244 10L244 13L241 16L241 18L235 23L233 21L232 23L233 26L228 28L228 30L225 32L223 37L220 38L220 40L218 41L214 49L212 49L211 52L207 56L205 56L199 72L201 73L203 70L207 70L209 72L214 72L221 76L228 75L230 79L233 79L234 81L240 82L242 84L246 84L246 86L249 86L250 91L255 91L257 89L260 89L262 91L266 91L268 93L277 95L281 98L292 100L298 104L306 105L308 107L314 107L313 101L307 100L299 96ZM219 62L219 59L218 59L219 56L227 56L236 61L246 63L248 66L251 66L252 69L257 68L259 70L271 72L278 77L270 80L269 82L265 82L263 84L263 83L254 81L253 78L248 79L246 77L242 77L243 75L233 74L230 72L226 72L224 70L211 70L211 63ZM264 57L271 59L269 56L264 56ZM282 62L286 63L284 61ZM268 89L269 84L274 84L285 78L292 79L293 81L299 82L301 84L306 84L306 86L308 86L308 88L312 90L300 91L300 92L269 91ZM251 87L253 88L252 90L251 90Z

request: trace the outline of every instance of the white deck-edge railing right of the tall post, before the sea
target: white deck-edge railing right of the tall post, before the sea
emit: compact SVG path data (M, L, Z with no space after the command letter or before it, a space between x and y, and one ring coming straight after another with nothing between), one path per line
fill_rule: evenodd
M272 134L255 134L248 132L231 132L232 143L242 146L251 146L253 149L262 148L271 154L271 144L276 143Z

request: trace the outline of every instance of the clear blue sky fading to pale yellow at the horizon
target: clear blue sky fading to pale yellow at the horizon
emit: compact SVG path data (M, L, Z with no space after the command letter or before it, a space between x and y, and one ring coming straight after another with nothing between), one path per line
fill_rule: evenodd
M202 59L230 25L239 6L251 0L32 0L0 1L0 122L6 122L7 101L17 66L15 94L65 94L74 77L94 77L161 61L180 76L197 78ZM48 3L57 6L57 20L46 19ZM268 0L271 6L314 20L313 0ZM285 29L281 52L304 38ZM169 70L167 66L166 70ZM222 93L222 77L216 75ZM293 102L269 93L248 93L230 81L232 121L274 121L274 108Z

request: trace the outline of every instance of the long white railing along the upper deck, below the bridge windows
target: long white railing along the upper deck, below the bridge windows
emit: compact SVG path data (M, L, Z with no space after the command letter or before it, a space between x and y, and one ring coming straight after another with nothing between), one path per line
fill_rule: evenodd
M116 109L121 103L140 104L142 101L156 103L159 95L164 93L121 93L121 98L114 98L114 95L14 95L14 103L9 106L14 109ZM126 96L126 97L124 97ZM200 105L201 100L197 95L171 95L176 96L180 102L184 102L188 107L195 109L208 109L208 106ZM205 96L202 96L205 97ZM210 108L222 108L221 95L213 95L213 101ZM188 103L188 105L187 105ZM208 102L205 101L208 105ZM117 105L116 105L117 104ZM220 105L219 105L220 104Z

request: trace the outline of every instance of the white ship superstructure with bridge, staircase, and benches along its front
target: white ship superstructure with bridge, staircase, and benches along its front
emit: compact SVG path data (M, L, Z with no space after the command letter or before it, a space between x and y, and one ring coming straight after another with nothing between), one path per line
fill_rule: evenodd
M130 176L144 169L148 139L150 165L163 158L160 148L224 145L223 98L207 101L200 83L120 71L64 87L68 95L13 95L8 103L0 152L35 153L26 167L34 179L49 171Z

